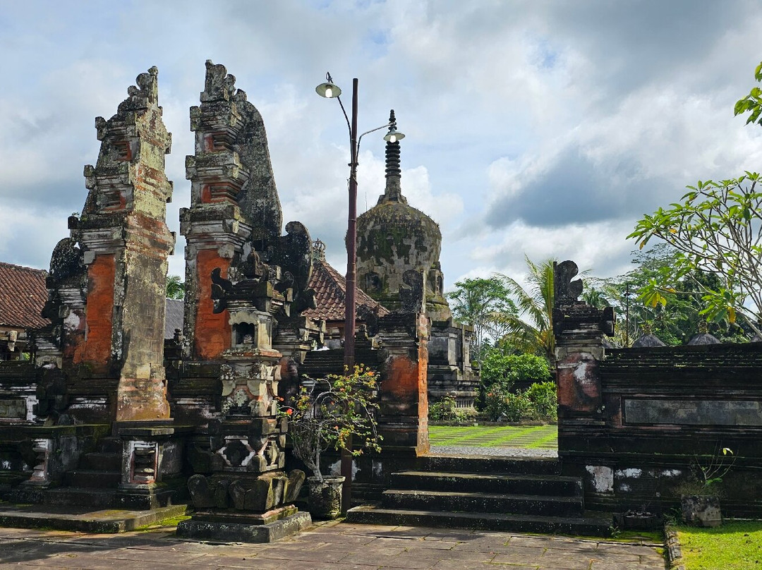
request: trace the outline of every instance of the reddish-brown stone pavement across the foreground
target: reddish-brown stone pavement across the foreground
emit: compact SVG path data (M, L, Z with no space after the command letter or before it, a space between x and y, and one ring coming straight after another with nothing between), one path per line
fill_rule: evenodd
M328 523L277 543L179 540L174 529L123 534L0 529L0 568L261 570L664 570L657 545L472 530Z

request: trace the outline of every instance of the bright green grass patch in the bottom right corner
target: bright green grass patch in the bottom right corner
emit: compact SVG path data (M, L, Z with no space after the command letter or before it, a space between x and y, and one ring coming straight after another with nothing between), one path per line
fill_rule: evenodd
M685 570L762 568L762 520L727 520L721 527L675 525Z

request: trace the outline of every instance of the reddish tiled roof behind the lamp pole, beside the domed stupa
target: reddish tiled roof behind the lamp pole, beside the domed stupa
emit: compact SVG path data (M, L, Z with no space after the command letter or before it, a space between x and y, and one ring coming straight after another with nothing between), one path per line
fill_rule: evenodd
M315 290L316 309L307 309L302 314L309 319L324 319L326 321L344 320L344 299L347 296L347 282L344 276L339 274L324 259L315 259L312 264L312 277L309 279L309 287ZM379 317L389 314L389 311L379 305L367 295L360 287L357 287L356 300L358 313L361 307L373 311L379 308Z

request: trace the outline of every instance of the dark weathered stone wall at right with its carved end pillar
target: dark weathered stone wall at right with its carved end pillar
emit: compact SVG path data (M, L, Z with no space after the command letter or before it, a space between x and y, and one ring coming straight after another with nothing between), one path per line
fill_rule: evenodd
M562 289L571 277L556 273ZM762 343L604 350L610 309L561 293L559 456L565 474L584 479L586 507L667 514L680 485L722 456L735 457L720 485L723 513L759 517Z

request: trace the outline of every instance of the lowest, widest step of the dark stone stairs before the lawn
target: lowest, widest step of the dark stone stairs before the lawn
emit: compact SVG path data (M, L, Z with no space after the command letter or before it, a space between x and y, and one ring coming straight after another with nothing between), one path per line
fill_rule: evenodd
M469 528L500 532L610 536L611 515L588 512L579 517L387 509L363 505L347 511L347 522L410 527Z

